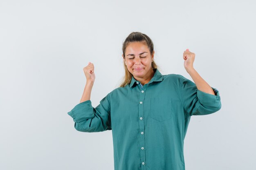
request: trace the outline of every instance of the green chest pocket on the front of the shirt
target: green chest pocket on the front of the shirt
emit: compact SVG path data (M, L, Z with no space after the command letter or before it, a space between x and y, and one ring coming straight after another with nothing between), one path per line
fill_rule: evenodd
M150 117L162 122L171 119L172 99L153 97L150 99Z

